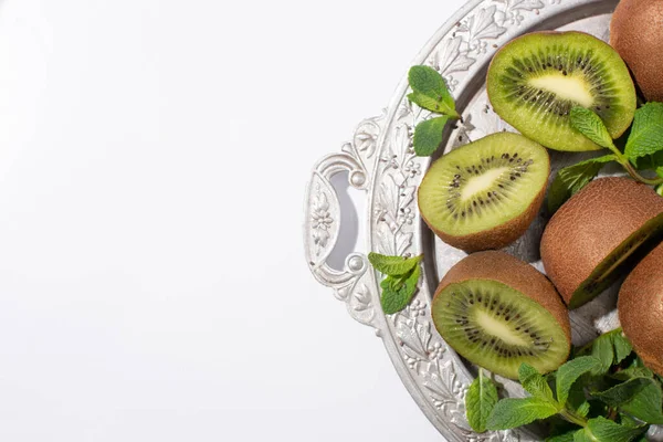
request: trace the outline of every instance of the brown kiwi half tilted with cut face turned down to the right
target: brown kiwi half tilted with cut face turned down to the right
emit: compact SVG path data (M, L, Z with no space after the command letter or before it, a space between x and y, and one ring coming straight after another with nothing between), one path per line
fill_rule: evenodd
M541 261L569 308L577 308L662 233L663 198L629 178L600 178L555 213L541 239Z

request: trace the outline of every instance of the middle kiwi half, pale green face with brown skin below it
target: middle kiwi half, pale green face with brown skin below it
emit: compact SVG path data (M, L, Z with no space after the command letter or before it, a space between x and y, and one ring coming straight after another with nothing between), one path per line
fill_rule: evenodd
M532 223L549 173L543 146L517 134L490 135L431 166L419 187L419 209L450 245L466 252L499 249Z

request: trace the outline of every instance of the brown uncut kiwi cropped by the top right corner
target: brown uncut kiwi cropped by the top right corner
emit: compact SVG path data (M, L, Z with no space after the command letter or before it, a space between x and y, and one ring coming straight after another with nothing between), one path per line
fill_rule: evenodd
M621 0L610 23L610 44L624 59L650 102L663 101L663 0Z

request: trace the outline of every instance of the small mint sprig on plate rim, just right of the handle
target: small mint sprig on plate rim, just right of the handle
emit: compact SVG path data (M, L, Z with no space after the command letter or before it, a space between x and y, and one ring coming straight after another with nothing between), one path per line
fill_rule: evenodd
M368 254L368 261L373 269L387 275L380 283L380 304L385 314L393 315L410 304L418 290L417 284L421 276L419 263L422 259L423 255L406 259L372 252Z

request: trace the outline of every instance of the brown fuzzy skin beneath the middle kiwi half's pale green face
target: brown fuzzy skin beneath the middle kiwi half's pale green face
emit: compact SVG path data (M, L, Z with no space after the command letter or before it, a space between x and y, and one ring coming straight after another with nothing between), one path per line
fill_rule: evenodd
M550 175L550 162L548 161L548 176ZM544 186L538 192L536 198L532 201L529 207L520 213L520 215L513 220L505 222L504 224L497 225L491 230L476 232L463 236L454 236L445 233L439 229L435 229L423 215L421 206L419 206L419 212L422 213L421 218L428 224L428 227L435 233L444 243L461 249L467 253L478 252L482 250L495 250L503 249L527 231L534 219L541 208L544 198L546 196L546 187ZM418 199L419 200L419 199Z

